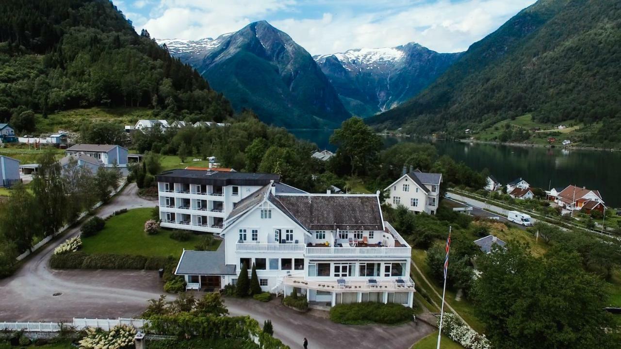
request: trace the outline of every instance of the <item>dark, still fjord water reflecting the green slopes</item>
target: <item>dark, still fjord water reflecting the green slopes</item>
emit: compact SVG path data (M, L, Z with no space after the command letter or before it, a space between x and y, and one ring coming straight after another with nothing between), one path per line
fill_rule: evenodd
M298 138L317 143L319 148L335 150L329 143L333 130L289 131ZM568 184L586 186L599 190L609 208L621 207L621 152L384 138L386 147L398 142L433 144L438 155L448 155L478 171L488 168L502 184L522 177L532 186L543 189L548 189L548 186L565 187Z

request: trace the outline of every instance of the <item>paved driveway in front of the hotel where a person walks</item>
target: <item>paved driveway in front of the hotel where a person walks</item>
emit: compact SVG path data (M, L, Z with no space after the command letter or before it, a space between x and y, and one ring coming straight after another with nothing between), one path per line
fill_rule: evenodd
M225 303L230 315L250 315L261 326L264 320L271 320L274 337L291 349L302 348L304 337L311 349L407 349L435 330L422 321L417 325L410 322L398 326L334 324L329 319L286 308L279 299L262 303L254 299L227 298Z

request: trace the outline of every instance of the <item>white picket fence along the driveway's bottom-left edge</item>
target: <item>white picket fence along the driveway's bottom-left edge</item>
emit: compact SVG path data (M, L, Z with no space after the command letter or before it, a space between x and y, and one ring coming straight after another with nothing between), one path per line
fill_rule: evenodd
M0 330L25 331L25 332L60 332L61 325L64 327L75 327L76 330L86 329L86 327L100 328L109 331L116 325L130 325L135 329L142 329L145 325L143 319L73 319L73 322L0 322Z

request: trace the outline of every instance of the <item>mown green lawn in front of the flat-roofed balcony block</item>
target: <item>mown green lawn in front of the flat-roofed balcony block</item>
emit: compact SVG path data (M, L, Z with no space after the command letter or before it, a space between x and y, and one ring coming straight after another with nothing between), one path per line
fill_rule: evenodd
M86 253L117 253L142 256L181 256L183 249L194 250L200 242L198 235L189 241L179 242L170 238L171 230L161 229L156 235L144 232L145 222L153 209L133 209L106 220L106 227L93 237L82 239ZM220 241L220 240L217 240ZM214 245L214 250L219 243Z

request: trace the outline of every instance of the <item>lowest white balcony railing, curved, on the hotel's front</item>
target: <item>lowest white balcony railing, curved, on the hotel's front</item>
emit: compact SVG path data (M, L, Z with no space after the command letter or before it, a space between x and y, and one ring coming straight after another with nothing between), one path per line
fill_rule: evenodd
M371 279L371 278L369 278ZM401 282L396 280L376 280L376 283L369 283L368 280L345 280L339 284L337 280L314 281L304 278L291 278L286 276L283 283L287 286L294 286L306 289L317 289L320 291L337 292L410 292L414 291L414 281L407 278Z

